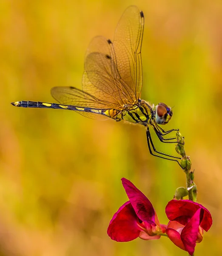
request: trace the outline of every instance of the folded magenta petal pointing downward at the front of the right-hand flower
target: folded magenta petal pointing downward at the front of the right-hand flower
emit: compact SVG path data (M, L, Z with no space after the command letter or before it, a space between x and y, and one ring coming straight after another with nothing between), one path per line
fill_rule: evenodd
M204 210L202 208L199 208L181 232L181 239L183 241L186 251L190 255L193 255L194 253L196 239L199 233L199 225L202 221L203 215Z

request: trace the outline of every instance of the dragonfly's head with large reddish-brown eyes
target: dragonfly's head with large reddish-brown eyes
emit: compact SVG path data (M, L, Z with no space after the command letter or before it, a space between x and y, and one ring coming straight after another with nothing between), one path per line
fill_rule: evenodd
M155 119L158 125L167 124L171 117L173 116L173 111L164 103L159 103L156 107Z

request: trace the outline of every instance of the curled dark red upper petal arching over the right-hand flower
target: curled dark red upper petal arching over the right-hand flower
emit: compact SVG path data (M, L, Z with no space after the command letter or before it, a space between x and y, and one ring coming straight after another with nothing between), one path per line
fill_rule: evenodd
M170 221L178 221L179 223L186 225L199 208L204 210L200 227L202 227L205 231L208 231L213 222L212 216L208 209L203 207L201 204L190 200L173 199L168 202L165 212Z

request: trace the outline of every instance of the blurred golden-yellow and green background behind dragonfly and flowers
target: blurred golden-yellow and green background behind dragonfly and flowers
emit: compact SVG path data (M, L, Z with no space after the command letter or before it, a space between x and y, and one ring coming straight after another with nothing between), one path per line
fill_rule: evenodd
M220 0L0 1L0 255L187 255L169 239L112 241L107 227L128 200L121 178L165 205L185 175L148 152L145 129L72 111L14 108L54 102L53 86L82 88L85 51L113 38L124 10L144 12L142 99L174 106L198 202L213 226L195 256L222 254L222 2ZM174 145L154 142L176 154Z

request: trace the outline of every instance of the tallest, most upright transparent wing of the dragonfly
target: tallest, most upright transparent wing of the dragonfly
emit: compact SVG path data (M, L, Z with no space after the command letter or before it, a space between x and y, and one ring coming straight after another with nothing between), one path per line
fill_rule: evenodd
M123 13L114 35L115 64L122 80L134 91L135 101L142 89L141 47L144 15L137 6L129 6Z

